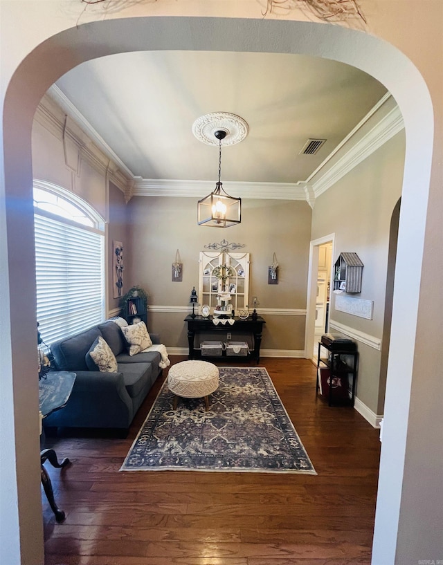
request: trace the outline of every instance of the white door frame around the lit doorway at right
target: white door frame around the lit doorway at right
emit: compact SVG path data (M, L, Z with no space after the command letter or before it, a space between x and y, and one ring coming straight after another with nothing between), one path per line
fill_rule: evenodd
M305 324L305 358L312 358L314 351L314 333L316 324L316 297L317 297L317 274L318 274L318 248L325 243L332 243L332 261L329 272L329 280L332 280L332 267L334 266L335 233L313 239L309 243L309 263L307 270L307 293L306 293L306 324ZM329 323L329 322L328 322Z

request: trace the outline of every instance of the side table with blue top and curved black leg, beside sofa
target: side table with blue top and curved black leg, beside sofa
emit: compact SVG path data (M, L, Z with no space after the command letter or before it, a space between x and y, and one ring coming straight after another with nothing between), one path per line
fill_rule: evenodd
M69 371L49 371L46 376L39 380L39 408L43 418L52 414L55 410L60 410L66 405L71 396L75 382L75 373ZM53 467L60 469L66 467L69 459L65 457L61 463L57 460L54 450L43 450L40 452L40 466L42 472L42 485L49 505L51 506L57 522L62 522L65 518L63 510L57 507L54 500L53 486L43 463L49 461Z

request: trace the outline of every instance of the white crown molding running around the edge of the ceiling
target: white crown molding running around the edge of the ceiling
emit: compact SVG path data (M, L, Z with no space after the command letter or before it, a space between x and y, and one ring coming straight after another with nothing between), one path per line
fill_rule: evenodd
M129 201L132 196L165 196L165 197L190 197L201 198L208 194L215 183L203 180L173 180L173 179L150 179L134 176L132 171L123 163L118 155L107 145L105 140L97 133L86 118L73 105L71 100L62 93L55 85L48 89L48 95L58 104L71 119L78 124L78 127L86 136L107 156L116 166L109 167L109 178L125 192L125 198ZM396 133L404 129L404 121L397 105L395 105L377 124L368 131L360 140L354 141L354 136L360 131L371 118L377 119L377 111L388 102L395 104L390 93L375 104L365 117L354 127L345 139L334 149L332 154L320 163L317 169L307 178L296 183L240 183L224 182L224 188L228 194L241 194L242 198L255 198L266 200L300 200L307 201L311 208L314 207L315 199L323 194L329 187L332 187L345 174L349 173L356 165L359 165L365 158L368 158L381 145L386 143ZM48 109L39 109L36 113L39 122L46 122L46 127L60 134L60 120L51 114ZM350 149L346 149L349 146ZM343 152L343 156L336 163L329 165L331 160ZM89 152L82 144L82 153ZM91 161L97 163L95 151L90 151ZM328 168L329 167L329 168ZM118 171L120 169L120 171ZM325 171L323 174L322 172ZM316 178L318 180L316 180Z

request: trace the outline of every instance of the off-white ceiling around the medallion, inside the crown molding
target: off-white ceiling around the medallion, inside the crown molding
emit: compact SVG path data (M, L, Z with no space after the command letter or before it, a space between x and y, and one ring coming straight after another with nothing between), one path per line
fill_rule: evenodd
M134 176L217 180L218 149L192 134L222 111L249 125L222 149L221 180L297 183L327 158L386 89L356 68L272 53L154 51L81 64L57 87ZM327 142L299 155L308 138Z

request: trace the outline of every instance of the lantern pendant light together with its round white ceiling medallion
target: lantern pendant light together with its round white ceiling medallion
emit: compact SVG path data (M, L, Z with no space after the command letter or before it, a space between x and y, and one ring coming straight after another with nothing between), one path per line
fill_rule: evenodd
M229 196L221 183L221 142L233 145L242 141L248 133L248 124L235 114L216 112L196 120L194 135L202 142L219 146L219 180L215 190L197 203L197 223L213 228L230 228L242 221L242 198Z

